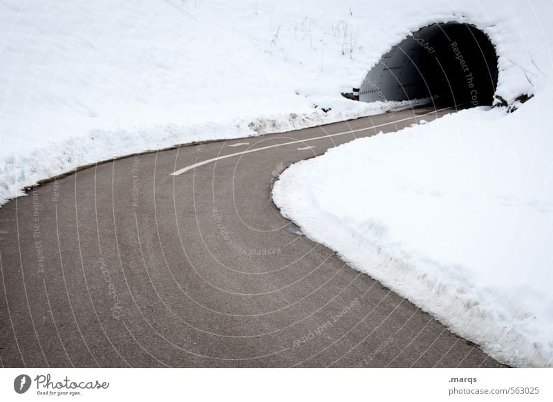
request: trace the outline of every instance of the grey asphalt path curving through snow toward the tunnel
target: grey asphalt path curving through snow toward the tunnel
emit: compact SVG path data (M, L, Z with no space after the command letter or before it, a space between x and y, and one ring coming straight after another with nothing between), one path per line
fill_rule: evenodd
M1 365L498 366L293 233L270 198L285 166L449 112L431 111L127 157L12 200L0 209Z

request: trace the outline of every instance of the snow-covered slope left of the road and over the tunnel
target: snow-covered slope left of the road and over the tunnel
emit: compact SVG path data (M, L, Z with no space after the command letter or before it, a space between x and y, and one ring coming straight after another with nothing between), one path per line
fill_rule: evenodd
M0 205L37 180L98 160L382 111L339 93L358 86L411 30L433 21L476 23L498 47L498 93L532 93L523 68L535 70L534 54L518 52L526 40L526 21L516 19L520 7L4 0Z

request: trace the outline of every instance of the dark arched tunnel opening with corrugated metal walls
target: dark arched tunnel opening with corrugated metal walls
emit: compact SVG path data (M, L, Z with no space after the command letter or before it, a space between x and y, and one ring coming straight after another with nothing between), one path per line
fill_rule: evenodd
M496 50L484 32L464 23L435 23L380 59L359 88L359 100L491 105L497 77Z

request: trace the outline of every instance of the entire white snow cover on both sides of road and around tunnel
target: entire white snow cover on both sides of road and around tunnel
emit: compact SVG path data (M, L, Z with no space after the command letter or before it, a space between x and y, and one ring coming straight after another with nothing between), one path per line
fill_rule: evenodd
M285 171L275 200L492 355L551 365L552 16L545 0L3 0L0 205L111 157L400 107L339 93L422 26L473 23L496 93L534 99L340 147Z

